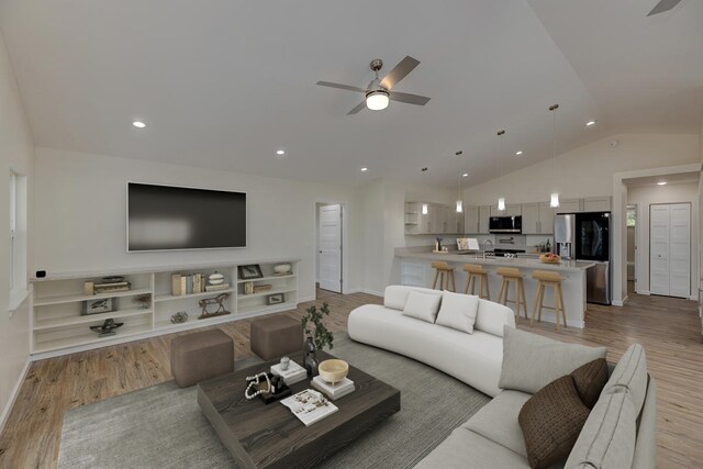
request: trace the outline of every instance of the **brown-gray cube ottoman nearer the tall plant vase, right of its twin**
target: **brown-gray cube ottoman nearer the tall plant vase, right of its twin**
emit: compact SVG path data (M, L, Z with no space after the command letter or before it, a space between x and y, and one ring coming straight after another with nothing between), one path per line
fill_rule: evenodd
M303 348L303 328L300 321L288 316L253 321L249 338L252 351L265 360L272 360Z

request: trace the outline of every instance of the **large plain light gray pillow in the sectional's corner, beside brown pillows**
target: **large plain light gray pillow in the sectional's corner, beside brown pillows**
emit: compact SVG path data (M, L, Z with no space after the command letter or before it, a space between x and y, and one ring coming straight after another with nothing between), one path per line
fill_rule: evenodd
M565 344L505 326L503 368L498 387L535 394L582 365L605 358L605 347Z

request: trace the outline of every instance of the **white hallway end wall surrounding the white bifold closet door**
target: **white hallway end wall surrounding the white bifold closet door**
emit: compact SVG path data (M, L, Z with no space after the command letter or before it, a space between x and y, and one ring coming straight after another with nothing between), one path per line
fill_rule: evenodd
M691 294L698 293L699 246L699 185L669 183L667 186L631 187L627 203L637 204L639 248L637 249L637 292L649 292L649 205L654 203L691 203Z

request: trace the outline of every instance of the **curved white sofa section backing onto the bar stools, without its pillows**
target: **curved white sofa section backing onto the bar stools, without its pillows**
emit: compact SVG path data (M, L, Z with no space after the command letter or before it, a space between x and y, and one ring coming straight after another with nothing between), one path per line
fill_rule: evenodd
M442 294L426 288L388 287L383 305L366 304L349 314L349 337L422 361L495 397L500 392L503 326L515 327L513 311L479 300L473 334L467 334L404 316L403 308L411 291Z

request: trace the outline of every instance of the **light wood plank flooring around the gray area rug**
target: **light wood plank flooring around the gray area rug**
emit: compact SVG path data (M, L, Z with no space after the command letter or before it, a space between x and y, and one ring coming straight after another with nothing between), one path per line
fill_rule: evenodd
M328 326L346 330L348 313L381 299L319 291L317 301L286 314L301 317L311 304L330 303ZM250 355L250 321L217 326L234 338L235 356ZM518 327L528 330L520 320ZM695 302L633 295L625 308L589 305L584 330L537 324L534 332L565 342L609 347L616 361L632 343L647 351L659 384L657 467L694 468L703 461L703 339ZM187 334L187 333L183 333ZM169 343L178 334L132 342L32 364L8 424L0 435L0 468L56 467L66 410L172 379Z

